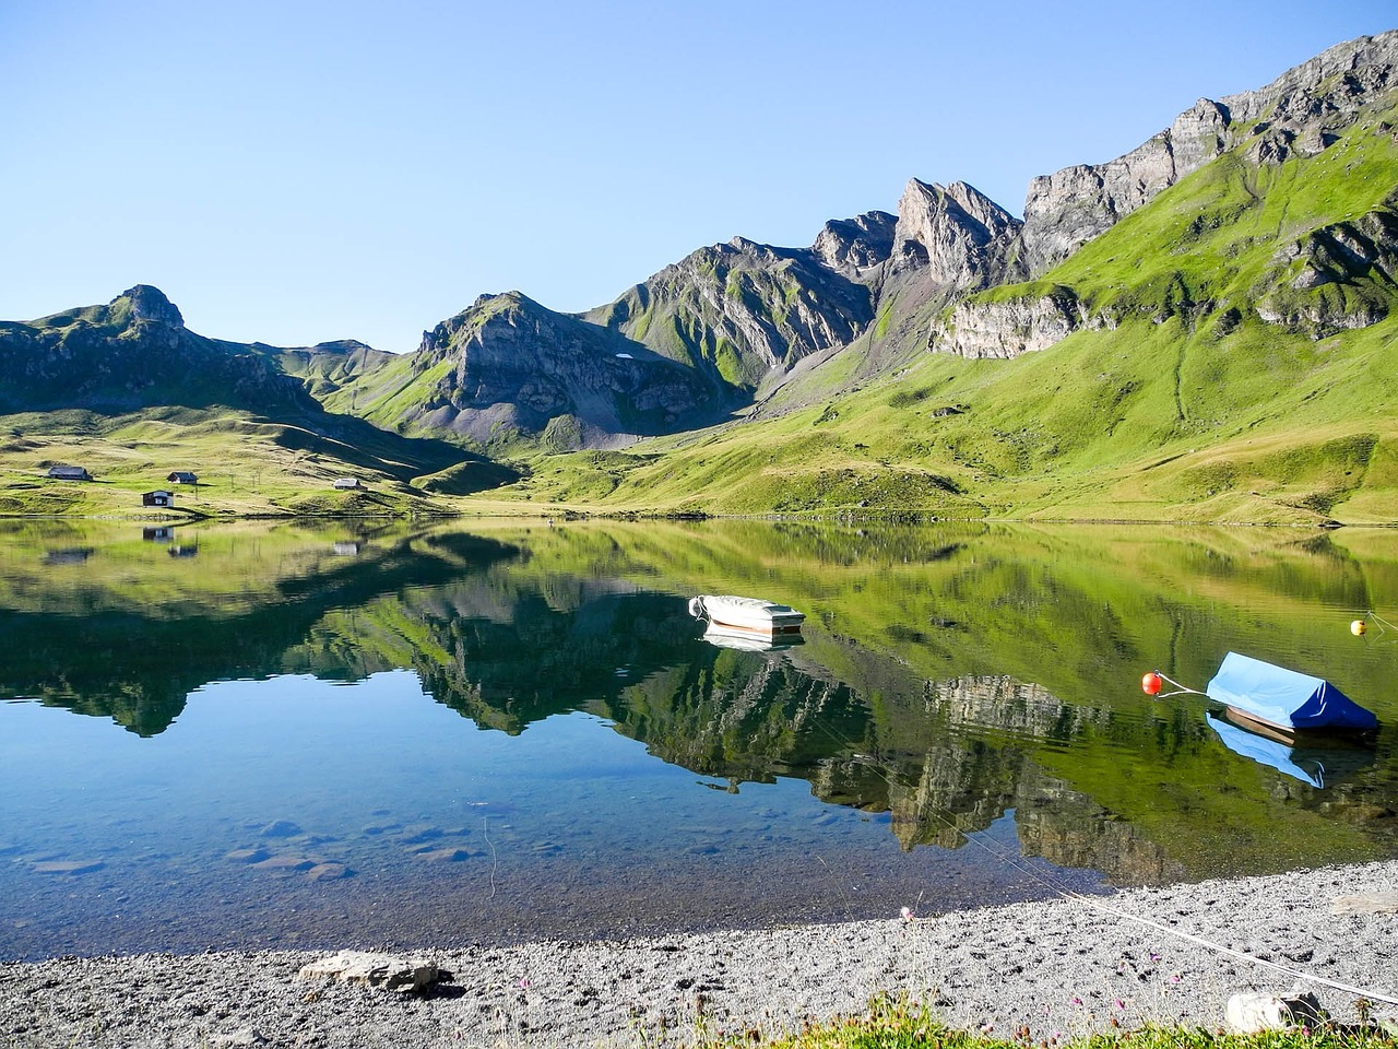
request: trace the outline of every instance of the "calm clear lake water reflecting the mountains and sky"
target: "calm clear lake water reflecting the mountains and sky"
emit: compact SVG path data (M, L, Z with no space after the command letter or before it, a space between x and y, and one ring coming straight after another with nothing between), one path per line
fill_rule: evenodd
M889 918L1398 855L1398 534L0 523L0 958ZM695 593L807 613L703 638ZM1227 650L1366 748L1234 738Z

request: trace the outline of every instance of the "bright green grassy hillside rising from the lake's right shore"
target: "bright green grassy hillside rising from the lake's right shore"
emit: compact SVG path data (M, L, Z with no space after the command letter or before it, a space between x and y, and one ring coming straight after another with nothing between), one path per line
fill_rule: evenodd
M1048 350L927 354L780 418L540 459L516 494L658 511L1392 520L1398 299L1383 260L1334 245L1398 227L1394 123L1383 113L1282 164L1227 154L1044 281L973 298L1071 292L1086 323ZM837 386L822 371L850 373L842 357L807 382Z

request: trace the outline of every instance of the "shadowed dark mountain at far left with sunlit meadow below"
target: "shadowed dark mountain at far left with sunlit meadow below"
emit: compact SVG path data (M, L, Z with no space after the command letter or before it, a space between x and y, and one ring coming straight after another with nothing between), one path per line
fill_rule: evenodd
M308 484L329 487L337 474L393 483L393 498L379 492L361 499L358 512L372 513L428 511L431 490L464 494L517 477L440 441L407 439L331 415L308 392L338 380L327 362L350 368L348 361L373 354L358 344L278 350L206 338L185 327L159 290L141 284L106 305L0 322L0 417L8 417L14 438L0 445L0 466L18 477L42 476L53 456L70 457L77 449L87 464L101 463L103 476L147 487L175 467L267 478L267 498L280 498L277 505L260 506L245 480L242 497L211 506L243 512L354 509L351 497L317 504L316 497L298 495ZM288 361L301 362L303 380L284 371ZM123 452L138 446L162 449L164 469ZM273 481L275 474L288 480ZM101 487L67 491L102 508ZM0 502L11 512L32 508L28 497Z

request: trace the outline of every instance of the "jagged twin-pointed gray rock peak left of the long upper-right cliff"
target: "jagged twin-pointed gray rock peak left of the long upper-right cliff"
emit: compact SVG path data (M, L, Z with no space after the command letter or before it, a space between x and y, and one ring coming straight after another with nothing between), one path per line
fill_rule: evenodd
M893 269L924 270L932 284L977 288L1004 276L1019 220L965 182L910 179L898 204Z

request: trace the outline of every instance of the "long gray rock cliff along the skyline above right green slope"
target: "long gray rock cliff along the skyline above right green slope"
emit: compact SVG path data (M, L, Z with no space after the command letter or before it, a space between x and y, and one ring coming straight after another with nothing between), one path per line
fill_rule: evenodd
M1314 154L1376 92L1398 83L1398 31L1336 45L1258 91L1201 98L1124 157L1081 164L1029 183L1023 260L1040 274L1226 150L1248 143L1254 162Z

